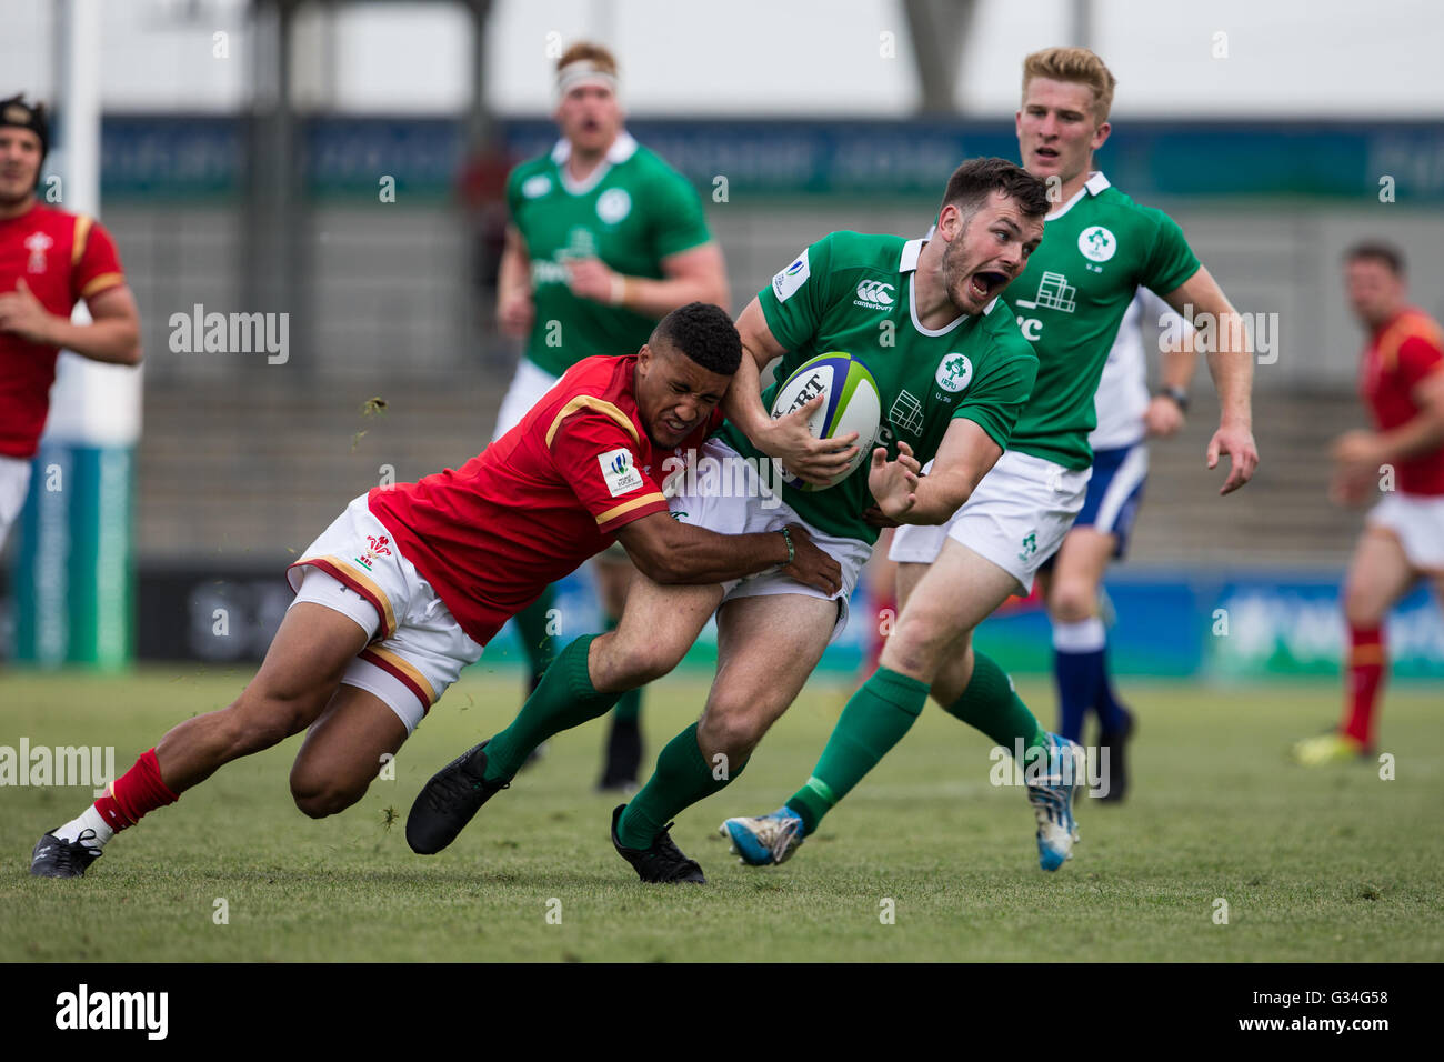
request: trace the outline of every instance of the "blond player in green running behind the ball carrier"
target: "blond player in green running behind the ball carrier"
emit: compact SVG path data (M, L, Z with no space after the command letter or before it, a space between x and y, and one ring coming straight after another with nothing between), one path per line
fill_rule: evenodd
M786 860L892 746L928 695L995 744L1024 750L1025 793L1037 822L1038 865L1071 858L1071 800L1082 751L1048 734L1012 681L972 646L973 629L1014 594L1028 594L1038 566L1083 507L1093 454L1093 394L1134 292L1149 288L1194 324L1217 324L1209 367L1222 416L1207 465L1232 468L1220 493L1253 474L1249 389L1253 364L1238 318L1168 215L1139 207L1093 169L1108 140L1113 75L1086 48L1034 52L1022 65L1017 114L1022 166L1050 185L1056 207L1043 246L1009 289L1022 334L1038 353L1038 380L1008 452L941 527L900 527L897 627L882 665L853 694L822 759L787 803L728 819L723 831L744 863ZM1053 189L1057 195L1053 195ZM926 483L926 480L924 480ZM1071 773L1070 773L1071 772Z

